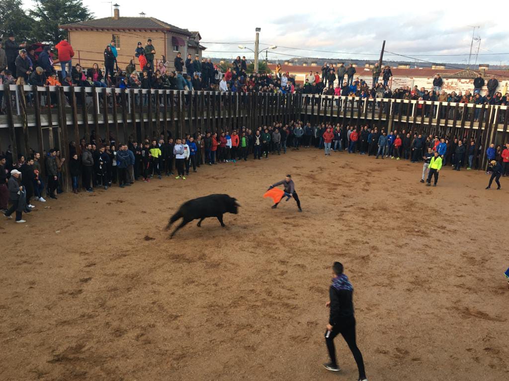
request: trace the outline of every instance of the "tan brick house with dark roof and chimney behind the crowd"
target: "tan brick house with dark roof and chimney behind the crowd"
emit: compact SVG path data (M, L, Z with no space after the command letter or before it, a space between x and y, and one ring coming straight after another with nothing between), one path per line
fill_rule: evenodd
M140 13L139 17L120 17L119 5L115 4L114 16L93 19L72 24L60 25L68 31L69 43L72 45L75 55L73 65L80 63L85 68L90 68L93 63L98 63L104 68L104 49L111 40L116 42L117 62L124 70L131 59L138 60L134 56L138 41L143 46L147 40L152 39L155 48L154 65L164 56L169 62L169 69L174 70L173 61L177 52L182 53L185 60L187 53L199 54L206 49L200 45L200 33L189 31L168 24L154 17L145 17Z

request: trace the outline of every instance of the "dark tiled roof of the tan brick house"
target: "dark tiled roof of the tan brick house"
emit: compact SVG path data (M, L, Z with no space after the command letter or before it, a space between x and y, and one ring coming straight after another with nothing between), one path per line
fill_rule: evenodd
M96 18L93 20L60 25L62 29L152 29L171 30L186 36L191 36L187 29L167 24L154 17L113 17Z

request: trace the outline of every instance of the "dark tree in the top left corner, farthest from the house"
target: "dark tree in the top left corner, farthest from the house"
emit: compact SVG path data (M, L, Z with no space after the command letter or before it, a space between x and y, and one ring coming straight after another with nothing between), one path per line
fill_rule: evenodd
M32 20L22 8L21 0L2 0L0 2L0 35L7 40L9 33L13 32L16 41L32 41Z

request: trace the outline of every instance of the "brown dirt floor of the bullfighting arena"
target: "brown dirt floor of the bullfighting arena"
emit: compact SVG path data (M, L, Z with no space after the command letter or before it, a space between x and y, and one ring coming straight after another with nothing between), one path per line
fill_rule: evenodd
M370 381L509 378L509 180L304 150L37 203L0 221L0 379L356 380L341 337L329 373L330 266L354 285ZM291 173L293 200L262 195ZM228 193L227 228L163 231L178 206ZM50 207L50 208L45 208Z

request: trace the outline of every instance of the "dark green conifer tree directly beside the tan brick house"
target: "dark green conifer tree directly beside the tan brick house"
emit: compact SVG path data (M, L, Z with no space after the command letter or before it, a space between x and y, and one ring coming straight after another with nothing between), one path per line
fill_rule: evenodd
M67 38L67 32L59 25L90 20L92 13L81 0L36 0L29 11L33 35L42 43L57 44Z

